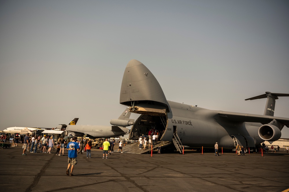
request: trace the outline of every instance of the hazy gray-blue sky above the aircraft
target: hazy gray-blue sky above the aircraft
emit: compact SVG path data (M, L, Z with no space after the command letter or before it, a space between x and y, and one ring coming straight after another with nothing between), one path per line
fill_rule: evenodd
M0 1L0 130L110 125L125 66L168 100L263 115L289 93L289 1ZM289 117L279 97L275 116ZM132 115L138 117L138 115ZM289 128L282 137L289 138Z

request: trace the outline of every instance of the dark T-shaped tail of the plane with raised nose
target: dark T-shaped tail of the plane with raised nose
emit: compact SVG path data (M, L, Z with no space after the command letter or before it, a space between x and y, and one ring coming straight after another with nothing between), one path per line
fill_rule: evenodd
M271 92L265 92L266 94L262 94L259 96L251 97L245 100L254 100L254 99L262 99L267 98L266 106L264 115L268 116L274 116L274 110L275 110L275 100L278 99L278 97L286 97L289 96L289 94L286 93L271 93Z

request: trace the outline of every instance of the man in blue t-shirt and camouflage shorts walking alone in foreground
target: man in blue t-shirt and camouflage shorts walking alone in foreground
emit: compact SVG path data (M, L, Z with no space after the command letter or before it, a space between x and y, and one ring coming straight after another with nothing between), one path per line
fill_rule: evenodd
M66 175L69 175L69 168L71 166L69 176L73 176L72 171L73 171L74 165L77 164L77 151L79 151L79 145L77 142L75 142L76 140L77 140L77 137L74 136L72 138L72 142L69 142L66 147L68 151L68 167L66 170Z

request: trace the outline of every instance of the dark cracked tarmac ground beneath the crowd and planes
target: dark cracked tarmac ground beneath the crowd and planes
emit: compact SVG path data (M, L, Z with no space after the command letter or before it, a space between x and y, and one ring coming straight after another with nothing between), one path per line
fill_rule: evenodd
M117 146L115 147L117 148ZM141 149L140 149L141 150ZM67 176L65 156L30 153L20 147L0 149L1 191L288 191L289 153L215 156L186 150L177 153L116 153L102 159L79 154L74 176Z

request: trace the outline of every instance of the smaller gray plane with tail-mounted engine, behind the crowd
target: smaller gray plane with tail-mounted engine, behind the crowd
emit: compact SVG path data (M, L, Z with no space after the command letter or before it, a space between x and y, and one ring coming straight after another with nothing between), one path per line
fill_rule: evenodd
M129 108L129 107L128 107ZM134 119L129 119L131 112L129 109L125 109L118 119L111 119L110 124L112 126L100 126L100 125L74 125L66 126L61 125L57 129L62 131L73 132L78 137L89 137L89 138L110 138L125 135L129 132L127 126L134 124Z

